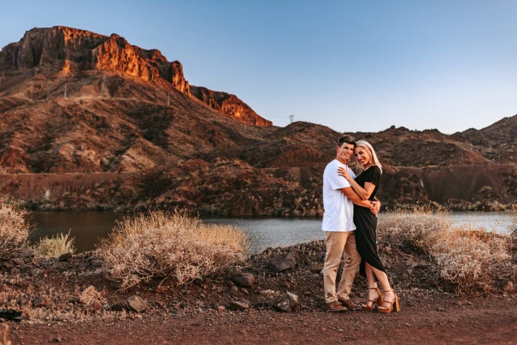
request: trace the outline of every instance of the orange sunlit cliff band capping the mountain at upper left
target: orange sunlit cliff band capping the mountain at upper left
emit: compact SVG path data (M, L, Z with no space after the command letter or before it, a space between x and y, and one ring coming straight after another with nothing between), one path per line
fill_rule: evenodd
M104 36L66 26L34 28L28 30L19 42L5 46L0 52L0 83L6 79L5 71L35 68L39 72L60 71L64 74L109 71L159 84L166 82L240 122L254 126L272 124L235 95L190 86L179 61L170 62L159 50L131 45L117 34ZM163 85L166 88L168 84Z

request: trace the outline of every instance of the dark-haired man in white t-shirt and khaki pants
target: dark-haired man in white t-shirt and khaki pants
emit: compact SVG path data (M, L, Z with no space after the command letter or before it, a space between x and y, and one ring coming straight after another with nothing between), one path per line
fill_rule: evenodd
M361 198L354 192L350 183L338 175L338 167L345 167L352 177L354 172L348 167L348 160L354 154L355 141L351 136L339 138L336 146L336 159L328 163L323 173L323 214L322 230L326 231L327 254L323 268L323 285L325 301L331 311L361 309L352 303L348 294L352 289L354 277L361 263L356 249L354 225L354 203L370 208L376 214L379 203ZM346 255L345 267L336 292L336 275L343 255Z

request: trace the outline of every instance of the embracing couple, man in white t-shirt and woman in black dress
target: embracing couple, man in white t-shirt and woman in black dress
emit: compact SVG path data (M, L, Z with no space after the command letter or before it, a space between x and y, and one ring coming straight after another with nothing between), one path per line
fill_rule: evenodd
M348 167L355 154L362 166L356 177ZM375 199L382 166L373 147L364 140L355 142L351 136L339 138L336 159L327 164L323 173L322 230L326 231L327 254L323 269L325 301L331 311L377 310L389 313L399 311L397 295L390 287L386 269L377 254L375 229L380 203ZM338 290L336 275L345 252L345 266ZM364 305L353 303L348 295L359 272L368 279L368 301ZM378 290L377 281L383 293Z

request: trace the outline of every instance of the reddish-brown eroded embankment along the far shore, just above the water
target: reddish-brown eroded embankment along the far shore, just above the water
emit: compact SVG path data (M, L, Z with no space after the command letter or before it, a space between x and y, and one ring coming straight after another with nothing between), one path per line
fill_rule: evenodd
M140 172L0 175L0 194L37 210L186 209L226 216L322 216L321 171L256 168L245 161L189 160ZM386 167L385 207L434 202L501 211L517 200L517 166Z

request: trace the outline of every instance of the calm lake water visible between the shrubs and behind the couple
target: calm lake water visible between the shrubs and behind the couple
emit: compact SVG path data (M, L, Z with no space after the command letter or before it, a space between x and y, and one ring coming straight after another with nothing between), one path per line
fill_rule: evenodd
M379 222L385 215L379 214ZM116 221L127 214L108 212L33 212L33 242L40 238L68 233L75 238L77 252L95 249L100 238L108 236ZM452 220L460 226L484 227L490 231L507 232L512 217L505 212L454 212ZM321 218L203 218L205 223L231 224L245 230L250 237L252 252L267 247L285 246L324 238Z

